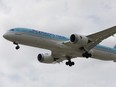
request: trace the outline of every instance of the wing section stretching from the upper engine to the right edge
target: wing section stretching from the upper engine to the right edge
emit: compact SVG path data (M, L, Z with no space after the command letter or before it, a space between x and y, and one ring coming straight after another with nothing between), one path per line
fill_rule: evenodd
M116 33L116 26L88 35L87 37L89 38L91 43L89 43L85 48L87 50L90 50L94 48L96 45L98 45L100 42L102 42L104 39L113 36L115 33Z

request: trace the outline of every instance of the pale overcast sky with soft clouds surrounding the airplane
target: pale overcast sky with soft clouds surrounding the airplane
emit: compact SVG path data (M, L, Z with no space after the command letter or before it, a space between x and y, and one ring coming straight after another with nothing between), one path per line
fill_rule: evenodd
M42 64L48 50L15 46L3 34L15 27L70 37L116 25L116 0L0 0L0 87L116 87L116 63L75 58L75 66ZM101 44L113 47L116 37Z

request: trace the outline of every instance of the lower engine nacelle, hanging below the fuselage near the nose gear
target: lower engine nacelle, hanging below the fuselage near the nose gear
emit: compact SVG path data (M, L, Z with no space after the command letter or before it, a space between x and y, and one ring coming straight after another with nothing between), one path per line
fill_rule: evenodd
M53 63L54 58L51 54L39 54L38 61L40 61L42 63Z

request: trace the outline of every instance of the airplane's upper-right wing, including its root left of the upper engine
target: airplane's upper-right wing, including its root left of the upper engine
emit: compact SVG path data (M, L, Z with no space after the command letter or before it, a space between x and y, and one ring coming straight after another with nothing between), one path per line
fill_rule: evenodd
M114 35L115 33L116 33L116 26L97 32L97 33L94 33L94 34L91 34L91 35L88 35L87 37L90 40L90 42L86 46L84 46L84 48L87 51L90 51L92 48L94 48L104 39ZM63 44L70 46L74 49L79 49L79 46L77 44L72 44L70 41L64 42Z

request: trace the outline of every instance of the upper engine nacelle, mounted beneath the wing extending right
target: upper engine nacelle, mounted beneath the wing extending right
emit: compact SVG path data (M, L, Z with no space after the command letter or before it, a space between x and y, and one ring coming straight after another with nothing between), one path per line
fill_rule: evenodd
M70 36L70 41L72 43L78 43L79 45L85 46L89 43L89 40L86 36L78 35L78 34L72 34Z

